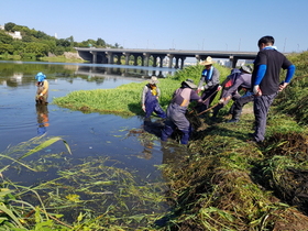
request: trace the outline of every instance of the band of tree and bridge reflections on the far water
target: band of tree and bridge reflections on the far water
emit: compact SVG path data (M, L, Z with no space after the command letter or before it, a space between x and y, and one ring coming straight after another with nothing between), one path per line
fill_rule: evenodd
M102 65L102 64L52 64L40 62L1 62L0 61L0 84L7 87L19 87L33 85L34 76L43 72L47 79L66 79L73 82L76 78L86 81L102 84L105 79L125 78L141 79L156 76L165 78L173 75L175 69L166 67L141 67L125 65Z

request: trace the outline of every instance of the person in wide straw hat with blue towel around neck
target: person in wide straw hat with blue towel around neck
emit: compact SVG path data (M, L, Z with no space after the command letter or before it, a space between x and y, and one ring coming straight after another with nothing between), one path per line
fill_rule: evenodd
M213 62L210 56L208 56L206 61L200 62L200 65L204 65L205 69L202 70L201 78L197 89L198 94L202 91L201 98L204 100L204 102L197 107L197 110L199 112L208 109L212 100L215 99L217 92L221 90L221 86L219 85L220 74L218 69L212 66L212 64Z

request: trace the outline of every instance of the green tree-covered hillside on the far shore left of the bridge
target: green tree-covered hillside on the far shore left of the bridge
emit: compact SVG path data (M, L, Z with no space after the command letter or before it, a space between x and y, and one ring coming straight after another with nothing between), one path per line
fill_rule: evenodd
M22 38L13 38L9 33L20 32ZM98 37L82 42L75 42L73 36L67 38L56 38L42 31L18 25L13 22L4 24L4 30L0 30L0 55L19 55L21 59L38 59L50 54L61 56L65 52L75 52L74 47L111 47L121 48L118 43L108 44Z

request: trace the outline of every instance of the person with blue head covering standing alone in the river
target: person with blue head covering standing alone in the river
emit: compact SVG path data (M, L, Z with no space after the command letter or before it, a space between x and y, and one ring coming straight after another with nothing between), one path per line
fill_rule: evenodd
M46 75L44 75L43 73L37 73L35 79L37 80L35 101L36 103L47 105L50 84L46 80Z

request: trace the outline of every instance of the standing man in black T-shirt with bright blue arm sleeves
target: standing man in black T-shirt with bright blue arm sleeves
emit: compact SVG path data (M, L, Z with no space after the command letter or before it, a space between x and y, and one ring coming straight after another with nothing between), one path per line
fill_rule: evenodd
M295 65L273 46L274 43L273 36L261 37L257 42L260 52L254 61L252 89L254 94L255 131L251 135L252 141L256 143L264 141L266 118L271 105L278 91L287 87L295 73ZM283 82L279 80L282 68L287 70Z

